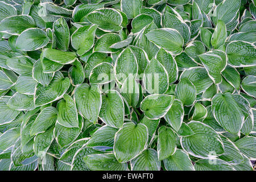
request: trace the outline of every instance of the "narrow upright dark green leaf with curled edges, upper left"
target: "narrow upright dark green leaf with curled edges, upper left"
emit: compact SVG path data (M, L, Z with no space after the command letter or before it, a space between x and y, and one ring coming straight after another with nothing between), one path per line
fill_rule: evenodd
M53 23L53 32L56 36L56 47L61 51L67 51L69 46L69 28L64 18L57 19Z

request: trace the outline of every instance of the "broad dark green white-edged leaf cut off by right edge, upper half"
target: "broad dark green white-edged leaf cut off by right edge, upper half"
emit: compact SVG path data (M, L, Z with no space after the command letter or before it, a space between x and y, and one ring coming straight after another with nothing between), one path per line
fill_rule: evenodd
M256 49L249 42L232 41L226 46L228 63L234 67L249 67L256 64Z

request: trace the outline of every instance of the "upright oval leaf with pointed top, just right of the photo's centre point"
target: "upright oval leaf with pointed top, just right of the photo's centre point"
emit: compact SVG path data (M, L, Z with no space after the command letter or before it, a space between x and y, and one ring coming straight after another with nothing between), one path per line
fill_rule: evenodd
M143 75L143 84L148 93L166 93L169 85L168 73L158 60L153 58L148 63Z

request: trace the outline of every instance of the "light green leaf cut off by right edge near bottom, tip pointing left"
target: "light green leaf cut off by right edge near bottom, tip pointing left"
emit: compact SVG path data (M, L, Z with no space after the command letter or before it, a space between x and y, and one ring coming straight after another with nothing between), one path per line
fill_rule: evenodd
M247 156L250 160L256 159L256 138L255 137L243 137L237 140L234 144L239 150Z

